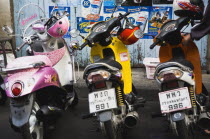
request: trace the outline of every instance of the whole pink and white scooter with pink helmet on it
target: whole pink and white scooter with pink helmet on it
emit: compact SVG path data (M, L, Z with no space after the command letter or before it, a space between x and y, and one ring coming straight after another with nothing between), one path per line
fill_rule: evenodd
M24 37L30 55L16 58L3 69L10 98L10 124L25 139L43 139L61 111L78 103L74 90L74 55L64 39L66 16L50 18L45 26L33 23L35 33Z

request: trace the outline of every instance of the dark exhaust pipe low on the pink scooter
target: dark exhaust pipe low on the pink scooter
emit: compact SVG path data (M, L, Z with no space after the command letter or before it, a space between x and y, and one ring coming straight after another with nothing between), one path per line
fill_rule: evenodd
M60 117L61 114L60 108L44 105L36 112L36 118L40 121L49 121Z

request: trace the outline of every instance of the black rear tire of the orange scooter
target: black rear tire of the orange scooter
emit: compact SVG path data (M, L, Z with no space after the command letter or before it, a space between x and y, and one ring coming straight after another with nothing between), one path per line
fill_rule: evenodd
M191 126L187 126L185 120L176 122L176 128L179 135L179 139L196 139L193 134Z

